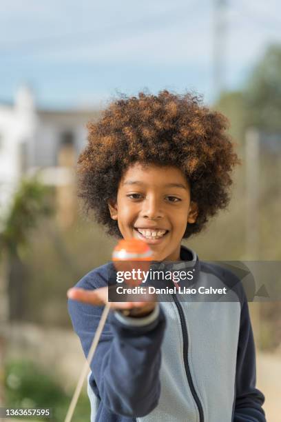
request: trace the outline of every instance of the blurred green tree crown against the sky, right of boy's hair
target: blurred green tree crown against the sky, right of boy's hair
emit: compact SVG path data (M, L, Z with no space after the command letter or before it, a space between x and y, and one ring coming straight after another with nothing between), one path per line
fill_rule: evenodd
M231 134L244 138L245 128L281 131L281 46L271 45L239 91L223 92L215 104L229 117Z

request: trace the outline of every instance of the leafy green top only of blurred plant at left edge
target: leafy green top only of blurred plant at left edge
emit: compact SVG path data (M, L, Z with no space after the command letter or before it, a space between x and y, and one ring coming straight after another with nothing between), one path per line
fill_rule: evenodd
M53 213L50 188L36 178L23 179L14 195L10 212L1 223L0 252L18 255L20 248L28 243L30 230L37 227L41 217Z

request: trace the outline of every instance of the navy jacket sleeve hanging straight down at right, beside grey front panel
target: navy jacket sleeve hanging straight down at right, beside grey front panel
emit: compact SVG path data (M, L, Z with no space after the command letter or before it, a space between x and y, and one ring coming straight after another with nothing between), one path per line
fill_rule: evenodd
M240 316L236 363L236 403L234 422L266 422L262 405L264 394L256 388L256 353L247 299Z

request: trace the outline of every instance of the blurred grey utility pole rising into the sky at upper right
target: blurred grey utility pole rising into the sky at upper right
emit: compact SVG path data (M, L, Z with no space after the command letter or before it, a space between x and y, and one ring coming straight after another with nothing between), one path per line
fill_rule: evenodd
M217 99L226 86L227 0L214 0L214 97Z

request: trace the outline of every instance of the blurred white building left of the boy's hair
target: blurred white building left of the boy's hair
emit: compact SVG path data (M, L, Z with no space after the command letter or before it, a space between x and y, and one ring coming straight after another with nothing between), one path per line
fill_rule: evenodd
M14 104L0 103L0 210L6 209L25 172L51 168L48 174L54 174L64 145L71 145L78 157L87 138L86 124L96 117L97 110L37 109L27 87L17 92Z

